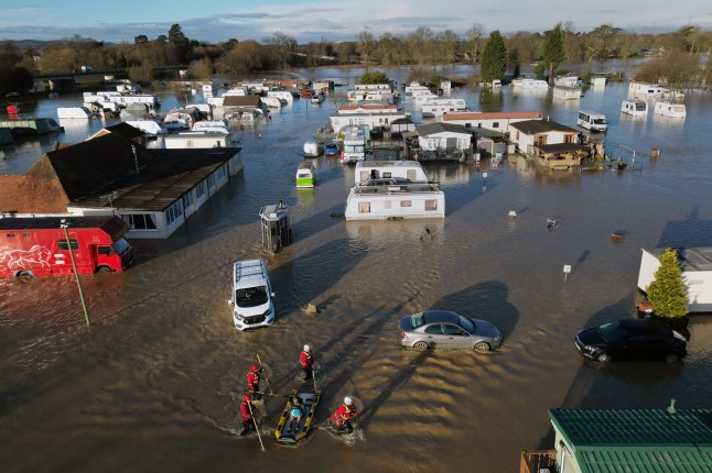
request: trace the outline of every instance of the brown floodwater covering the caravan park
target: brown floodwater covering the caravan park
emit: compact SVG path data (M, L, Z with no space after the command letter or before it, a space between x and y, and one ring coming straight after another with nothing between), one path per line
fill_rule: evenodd
M401 81L408 74L388 73ZM360 72L320 74L349 74L353 84ZM712 245L709 94L688 94L687 119L673 120L621 114L624 84L571 103L508 87L460 90L474 110L541 110L570 125L579 109L603 111L608 153L628 162L635 153L643 170L552 174L518 157L496 168L428 166L445 191L445 219L386 222L332 217L353 183L353 167L334 158L315 160L315 189L294 188L302 143L327 122L338 94L238 130L240 176L168 241L133 241L134 267L83 277L90 330L72 277L0 280L4 472L513 472L520 450L552 447L548 408L664 408L671 398L678 408L710 407L709 316L692 318L681 363L602 367L572 343L584 327L635 314L641 248ZM163 110L184 99L164 95ZM35 114L79 101L46 100ZM6 148L0 172L24 172L54 140L98 128ZM658 158L648 157L652 148ZM293 243L272 255L261 249L257 213L280 199L290 205ZM612 241L614 231L625 241ZM227 305L230 264L257 256L268 263L278 319L238 332ZM320 314L304 314L309 302ZM399 346L399 318L432 308L494 322L503 346ZM268 397L262 452L257 437L236 436L236 399L258 355L263 387L299 386L304 343L320 367L319 428L296 447L277 443L271 420L284 399ZM345 395L360 420L339 438L322 426Z

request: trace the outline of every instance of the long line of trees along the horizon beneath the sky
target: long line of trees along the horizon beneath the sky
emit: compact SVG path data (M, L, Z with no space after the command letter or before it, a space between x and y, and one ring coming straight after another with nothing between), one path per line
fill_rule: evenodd
M641 51L662 58L650 67L649 75L665 75L671 82L681 82L690 76L690 68L697 68L699 54L712 48L712 32L697 26L656 35L637 34L609 24L590 32L575 32L570 22L559 23L542 34L520 31L501 35L493 31L485 37L484 31L482 24L474 24L462 36L452 30L436 33L428 26L419 26L404 35L384 33L379 37L363 31L355 41L302 45L277 32L261 41L230 38L209 44L188 38L180 24L173 24L166 35L153 40L138 35L132 44L105 44L75 35L50 42L42 50L20 51L6 42L0 47L0 78L3 78L0 84L3 90L9 87L17 90L20 87L15 79L23 77L22 69L32 76L76 72L82 65L91 65L95 70L126 69L131 80L139 82L152 81L157 67L174 65L188 65L192 76L207 78L215 73L235 77L323 64L428 67L465 62L481 65L483 78L497 78L507 70L518 75L522 66L531 63L539 63L537 72L543 74L555 72L563 63L627 59ZM672 64L679 73L672 74L666 67ZM6 80L8 77L13 79Z

